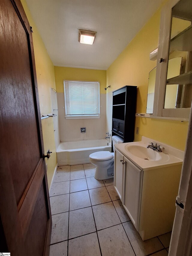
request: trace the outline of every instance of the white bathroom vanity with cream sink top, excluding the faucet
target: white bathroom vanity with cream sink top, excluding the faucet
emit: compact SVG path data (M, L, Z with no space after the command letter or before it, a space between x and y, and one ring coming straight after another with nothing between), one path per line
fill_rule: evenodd
M115 145L114 187L143 240L172 230L184 155L162 143L155 152L149 140Z

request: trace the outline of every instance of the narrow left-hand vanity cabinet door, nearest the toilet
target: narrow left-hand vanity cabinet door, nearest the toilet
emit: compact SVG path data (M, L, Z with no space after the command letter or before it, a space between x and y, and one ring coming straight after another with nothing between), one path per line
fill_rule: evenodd
M123 167L124 156L117 149L115 149L114 157L114 187L119 195L119 198L122 200L122 191L123 191Z

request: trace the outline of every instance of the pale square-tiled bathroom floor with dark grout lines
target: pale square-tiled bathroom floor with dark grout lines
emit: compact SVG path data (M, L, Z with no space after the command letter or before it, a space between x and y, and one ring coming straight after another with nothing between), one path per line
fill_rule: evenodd
M50 192L49 256L167 256L171 232L142 241L114 189L93 164L60 166Z

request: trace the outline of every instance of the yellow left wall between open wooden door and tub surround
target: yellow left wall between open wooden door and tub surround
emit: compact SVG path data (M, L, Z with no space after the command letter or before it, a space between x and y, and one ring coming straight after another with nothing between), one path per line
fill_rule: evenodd
M51 87L55 88L55 77L54 77L54 66L47 53L45 45L41 39L38 29L33 21L29 8L25 0L21 0L30 26L33 29L33 46L35 53L35 65L37 72L38 92L39 92L39 103L41 115L52 113L51 109ZM50 149L53 153L47 162L47 178L50 186L52 176L57 164L55 139L54 139L54 128L52 118L42 119L42 130L44 140L45 152ZM46 154L46 153L45 153Z

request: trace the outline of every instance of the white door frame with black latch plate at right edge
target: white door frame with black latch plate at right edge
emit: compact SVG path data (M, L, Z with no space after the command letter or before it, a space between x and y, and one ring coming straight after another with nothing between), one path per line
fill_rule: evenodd
M190 112L176 214L171 236L169 256L192 255L192 110Z

